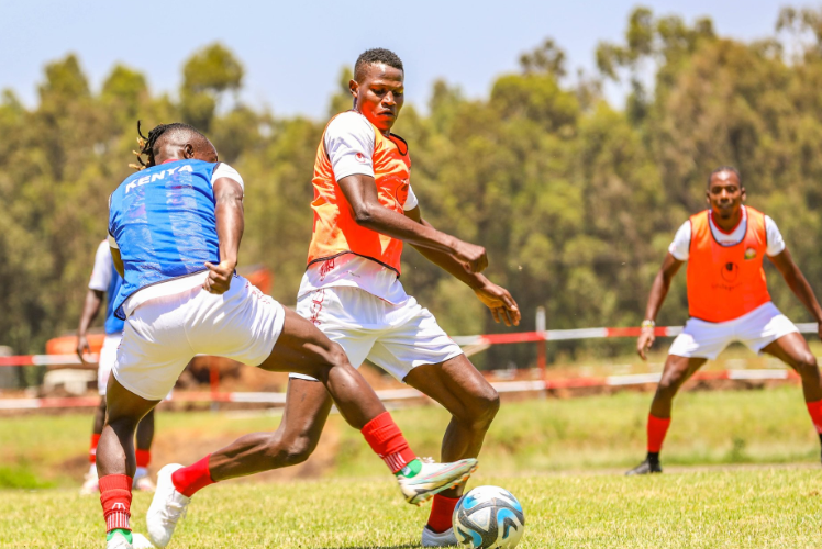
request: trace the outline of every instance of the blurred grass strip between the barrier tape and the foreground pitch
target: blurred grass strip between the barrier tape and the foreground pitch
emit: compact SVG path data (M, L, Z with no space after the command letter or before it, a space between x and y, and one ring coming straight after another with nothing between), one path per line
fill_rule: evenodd
M633 466L644 455L649 402L649 393L623 392L504 403L481 464L502 474ZM393 416L420 455L438 456L448 422L443 410L399 410ZM243 434L274 430L279 421L258 413L159 413L154 463L191 462ZM0 419L0 488L77 485L87 469L90 424L88 414ZM819 439L798 386L686 392L675 403L663 458L666 466L819 462ZM333 416L315 455L289 474L370 477L374 467L359 433ZM13 480L14 471L20 479Z

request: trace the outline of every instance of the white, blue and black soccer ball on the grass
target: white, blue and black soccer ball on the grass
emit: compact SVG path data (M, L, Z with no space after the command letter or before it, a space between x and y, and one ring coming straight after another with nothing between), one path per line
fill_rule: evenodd
M522 505L498 486L478 486L460 497L453 522L459 546L473 549L511 549L525 529Z

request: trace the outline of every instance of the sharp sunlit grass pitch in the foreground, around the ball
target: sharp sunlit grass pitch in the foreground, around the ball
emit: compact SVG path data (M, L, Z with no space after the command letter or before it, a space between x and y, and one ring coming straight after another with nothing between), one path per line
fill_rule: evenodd
M522 502L521 548L804 548L822 546L819 471L756 469L653 478L479 474ZM146 494L133 526L144 530ZM427 508L374 480L225 483L197 495L173 547L415 548ZM97 497L0 492L0 547L103 547Z

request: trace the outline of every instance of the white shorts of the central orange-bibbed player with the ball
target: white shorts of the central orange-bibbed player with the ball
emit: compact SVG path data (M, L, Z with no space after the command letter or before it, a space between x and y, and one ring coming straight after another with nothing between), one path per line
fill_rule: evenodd
M418 366L463 354L413 298L393 305L359 288L322 288L300 296L297 313L338 343L355 368L367 358L400 381ZM314 380L299 373L290 377Z

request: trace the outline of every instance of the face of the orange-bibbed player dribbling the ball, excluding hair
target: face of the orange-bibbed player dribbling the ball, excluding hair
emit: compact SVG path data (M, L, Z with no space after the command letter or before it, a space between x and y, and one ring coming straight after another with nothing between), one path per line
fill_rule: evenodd
M402 78L402 70L377 63L365 68L362 81L351 81L356 109L380 132L390 132L400 114L406 100Z

